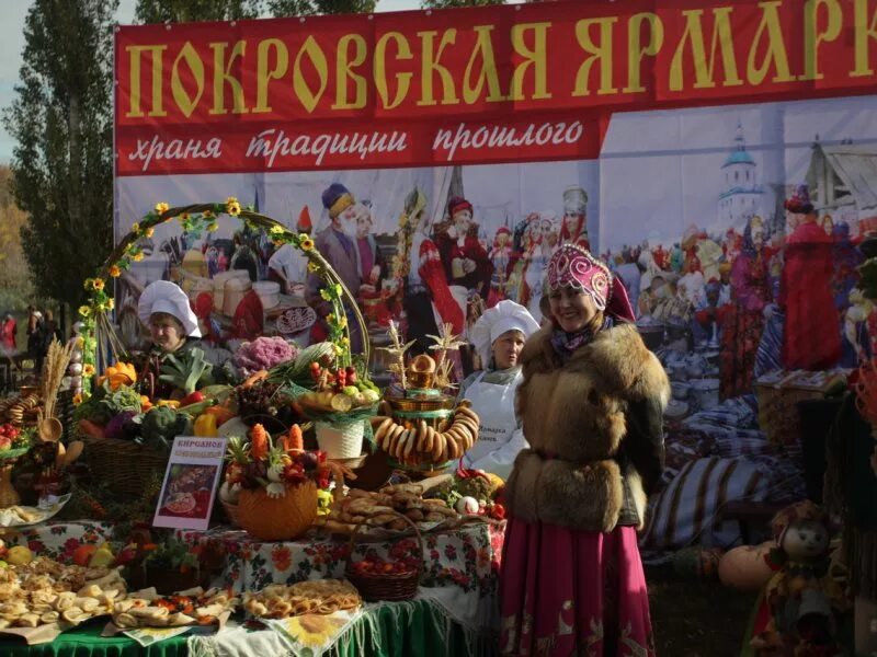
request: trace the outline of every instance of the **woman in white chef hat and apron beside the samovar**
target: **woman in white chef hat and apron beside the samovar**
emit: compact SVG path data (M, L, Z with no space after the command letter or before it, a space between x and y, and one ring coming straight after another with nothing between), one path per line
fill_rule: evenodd
M481 424L478 440L460 459L463 468L506 479L517 452L527 447L514 413L522 378L517 358L538 327L529 311L514 301L500 301L475 323L470 339L485 369L463 382L459 397L472 403Z

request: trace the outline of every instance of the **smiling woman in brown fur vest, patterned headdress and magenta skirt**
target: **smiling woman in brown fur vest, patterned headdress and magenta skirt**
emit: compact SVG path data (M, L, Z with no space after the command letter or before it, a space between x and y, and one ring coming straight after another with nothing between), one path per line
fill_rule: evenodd
M531 449L506 485L502 652L653 655L637 530L663 468L670 383L604 263L566 244L547 285L551 323L521 355Z

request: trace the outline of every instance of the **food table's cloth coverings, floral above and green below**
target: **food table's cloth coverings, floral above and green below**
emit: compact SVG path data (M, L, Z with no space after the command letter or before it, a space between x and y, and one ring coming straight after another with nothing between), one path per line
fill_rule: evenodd
M112 527L95 522L47 522L11 533L9 544L29 545L39 554L69 561L82 542L109 540ZM504 528L476 523L446 533L423 537L423 576L410 602L368 603L356 612L328 616L299 616L273 627L243 624L238 613L220 632L182 634L143 646L124 635L101 636L107 619L68 630L54 642L26 646L20 638L0 637L0 655L127 657L231 657L308 655L324 652L344 656L375 655L490 655L496 652L499 626L497 584ZM255 591L272 583L343 577L349 541L309 538L262 542L243 531L214 528L179 530L190 543L218 544L225 563L215 584L236 591ZM410 542L413 538L400 539ZM399 541L396 541L398 544ZM386 556L394 541L356 543L354 560L368 553Z

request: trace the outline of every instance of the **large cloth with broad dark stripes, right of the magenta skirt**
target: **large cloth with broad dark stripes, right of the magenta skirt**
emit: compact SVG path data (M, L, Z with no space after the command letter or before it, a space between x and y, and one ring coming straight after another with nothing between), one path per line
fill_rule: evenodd
M726 546L740 537L734 521L721 522L729 503L761 502L768 481L760 468L742 458L709 457L686 463L649 505L643 550L677 550L691 543Z

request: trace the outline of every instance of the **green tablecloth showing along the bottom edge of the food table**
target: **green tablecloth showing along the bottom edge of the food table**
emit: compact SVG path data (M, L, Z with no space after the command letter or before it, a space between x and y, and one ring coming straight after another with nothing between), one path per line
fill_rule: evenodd
M448 620L436 622L441 612L425 600L407 604L385 604L371 609L369 619L361 619L362 632L349 632L339 642L342 657L438 657L445 655L490 655L496 646L489 637L469 635ZM182 657L189 655L186 636L169 638L148 648L134 639L118 635L101 636L103 622L69 630L54 642L26 646L20 639L0 639L3 657ZM374 632L378 635L375 636ZM269 632L265 630L265 632ZM257 656L254 657L262 657ZM265 656L266 657L266 656ZM272 656L273 657L273 656Z

